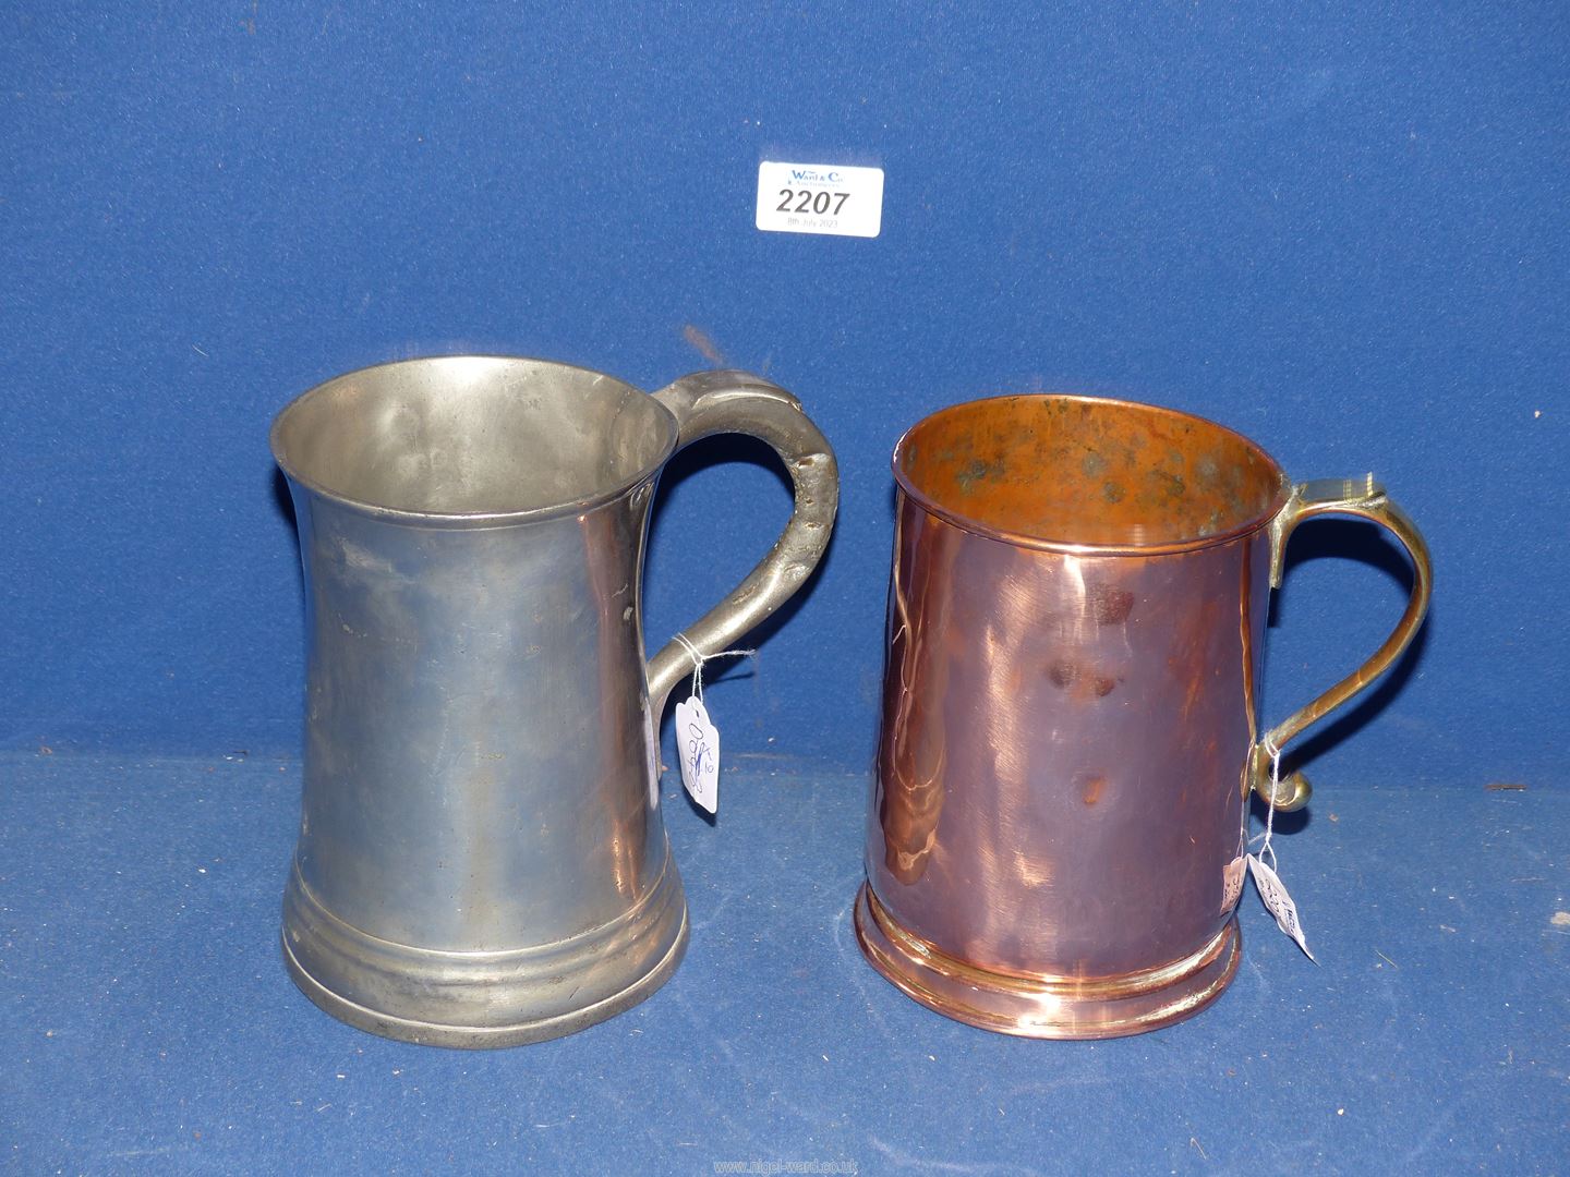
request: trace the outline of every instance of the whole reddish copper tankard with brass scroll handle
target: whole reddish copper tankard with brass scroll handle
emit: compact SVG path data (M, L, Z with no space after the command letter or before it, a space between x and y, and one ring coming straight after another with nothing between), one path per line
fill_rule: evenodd
M988 1029L1113 1037L1188 1017L1237 970L1250 789L1422 625L1432 570L1371 479L1287 480L1165 408L1010 395L901 438L867 884L868 960ZM1275 728L1262 637L1292 529L1386 527L1415 567L1389 639Z

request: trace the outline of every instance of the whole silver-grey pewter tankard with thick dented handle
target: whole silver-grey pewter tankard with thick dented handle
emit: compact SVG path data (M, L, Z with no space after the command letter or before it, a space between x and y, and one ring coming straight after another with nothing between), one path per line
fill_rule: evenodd
M305 565L300 840L283 951L377 1034L504 1047L611 1017L686 946L658 725L691 654L644 664L648 507L666 460L761 438L794 482L774 549L685 637L733 643L834 526L834 454L741 372L648 395L540 359L451 356L330 380L273 422Z

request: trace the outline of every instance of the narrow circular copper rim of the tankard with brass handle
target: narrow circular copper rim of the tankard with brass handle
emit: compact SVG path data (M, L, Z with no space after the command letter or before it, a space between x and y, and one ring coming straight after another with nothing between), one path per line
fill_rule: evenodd
M981 518L980 513L966 512L951 502L950 497L934 494L917 485L917 480L911 472L911 463L914 460L917 444L926 433L950 421L958 424L956 419L978 416L989 410L995 411L995 406L1005 402L1075 405L1099 416L1123 416L1146 428L1152 422L1165 421L1184 425L1188 430L1199 430L1207 435L1212 443L1232 449L1237 454L1245 455L1245 461L1258 465L1259 472L1256 480L1261 486L1269 488L1269 494L1258 496L1254 504L1247 508L1236 510L1234 515L1226 519L1225 526L1210 530L1196 527L1185 529L1184 534L1178 535L1152 535L1143 524L1135 523L1130 524L1127 532L1123 535L1080 540L1063 534L1049 534L1038 527L1008 526ZM1269 526L1270 521L1280 515L1292 493L1292 483L1287 479L1286 471L1281 469L1281 465L1270 457L1270 454L1259 443L1234 428L1210 421L1209 417L1201 417L1195 413L1185 413L1176 408L1167 408L1163 405L1149 405L1121 397L1097 397L1082 392L1003 392L966 400L956 405L945 405L944 408L917 421L900 436L900 441L895 443L893 447L892 466L895 483L900 486L901 493L914 499L925 510L956 527L999 540L1002 543L1017 545L1020 548L1068 552L1075 556L1167 556L1231 543L1232 540Z

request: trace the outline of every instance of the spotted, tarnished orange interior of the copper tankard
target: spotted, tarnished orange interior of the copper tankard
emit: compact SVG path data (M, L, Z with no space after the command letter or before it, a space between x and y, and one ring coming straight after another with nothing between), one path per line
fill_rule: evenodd
M1229 428L1176 410L1079 395L953 405L900 441L906 493L973 530L1025 543L1162 549L1269 521L1281 468Z

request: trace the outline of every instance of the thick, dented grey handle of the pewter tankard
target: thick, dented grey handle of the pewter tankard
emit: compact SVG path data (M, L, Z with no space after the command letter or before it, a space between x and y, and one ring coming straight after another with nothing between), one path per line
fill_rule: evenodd
M678 447L714 433L744 433L766 441L790 471L796 508L774 548L724 601L681 634L702 656L733 645L779 609L812 573L829 546L840 502L834 450L801 402L747 372L696 372L655 392L680 427ZM655 716L670 689L692 673L692 654L672 640L648 662L648 698Z

